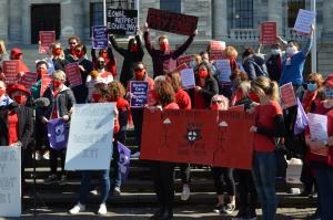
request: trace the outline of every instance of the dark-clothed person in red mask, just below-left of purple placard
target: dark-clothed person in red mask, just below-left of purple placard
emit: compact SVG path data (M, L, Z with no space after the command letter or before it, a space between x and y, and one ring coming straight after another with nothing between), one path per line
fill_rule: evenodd
M79 43L78 45L75 45L74 51L75 51L75 57L78 59L78 63L79 63L82 84L72 87L72 91L74 93L77 103L81 104L81 103L87 103L88 87L85 85L85 82L89 73L93 70L93 66L92 66L92 62L89 61L85 55L87 48L84 44Z

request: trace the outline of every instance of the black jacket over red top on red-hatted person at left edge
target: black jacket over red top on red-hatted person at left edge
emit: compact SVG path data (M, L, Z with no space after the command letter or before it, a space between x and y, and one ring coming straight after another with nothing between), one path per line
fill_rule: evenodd
M18 114L19 119L19 140L22 147L26 148L31 140L33 134L33 112L26 106L19 106L17 103L11 103L8 106L0 106L0 146L9 145L8 130L8 112L13 111Z

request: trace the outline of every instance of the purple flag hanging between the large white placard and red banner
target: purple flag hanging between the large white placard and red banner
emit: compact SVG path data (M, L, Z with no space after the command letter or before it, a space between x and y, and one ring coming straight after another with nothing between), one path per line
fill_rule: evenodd
M118 166L120 167L121 184L123 184L127 180L130 171L131 150L120 142L118 142L118 150L119 150Z

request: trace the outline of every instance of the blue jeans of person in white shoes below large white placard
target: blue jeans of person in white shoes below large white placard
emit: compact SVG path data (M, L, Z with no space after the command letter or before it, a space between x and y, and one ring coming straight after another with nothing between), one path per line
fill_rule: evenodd
M81 179L81 188L80 188L80 198L79 202L82 205L87 205L87 198L89 190L91 189L90 180L93 174L99 174L100 176L100 189L101 189L101 201L100 203L104 203L108 200L109 191L110 191L110 177L109 169L105 170L83 170L82 179Z

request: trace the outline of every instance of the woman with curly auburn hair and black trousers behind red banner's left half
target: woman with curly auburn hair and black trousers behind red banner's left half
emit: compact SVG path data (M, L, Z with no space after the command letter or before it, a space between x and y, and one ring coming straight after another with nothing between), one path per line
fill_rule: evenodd
M159 106L162 109L179 109L179 105L175 103L175 95L170 83L161 81L157 84L155 91L159 97ZM173 218L173 163L151 161L152 177L159 201L159 209L150 218L150 220L169 220Z

